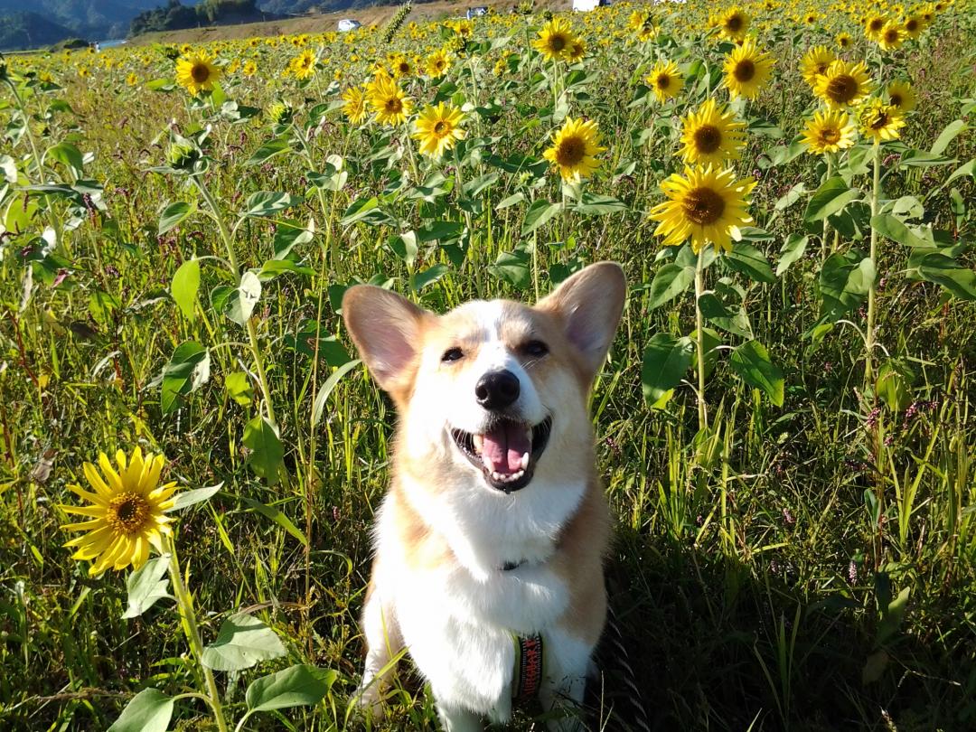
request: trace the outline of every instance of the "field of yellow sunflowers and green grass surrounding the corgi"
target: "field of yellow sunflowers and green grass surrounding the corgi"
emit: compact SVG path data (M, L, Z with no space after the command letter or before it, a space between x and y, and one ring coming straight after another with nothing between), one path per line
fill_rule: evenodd
M0 60L0 729L437 729L351 702L395 416L342 296L600 260L650 728L976 729L976 4L412 11Z

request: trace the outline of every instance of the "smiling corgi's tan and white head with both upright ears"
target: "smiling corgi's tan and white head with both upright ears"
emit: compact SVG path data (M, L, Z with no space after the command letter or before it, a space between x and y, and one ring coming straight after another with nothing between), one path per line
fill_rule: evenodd
M620 266L604 262L535 306L475 301L437 316L359 285L346 292L343 313L363 360L396 402L400 447L411 462L442 483L480 478L511 493L536 475L560 480L587 463L590 386L626 289Z

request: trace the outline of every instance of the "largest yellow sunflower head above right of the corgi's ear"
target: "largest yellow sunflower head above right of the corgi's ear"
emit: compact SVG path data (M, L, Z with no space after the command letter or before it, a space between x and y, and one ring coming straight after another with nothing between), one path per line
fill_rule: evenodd
M732 249L739 226L752 223L749 215L752 179L737 181L731 168L713 170L685 167L684 175L672 174L661 183L668 201L651 209L650 218L659 222L655 234L664 236L666 247L679 246L691 239L697 254L708 244L715 251Z

